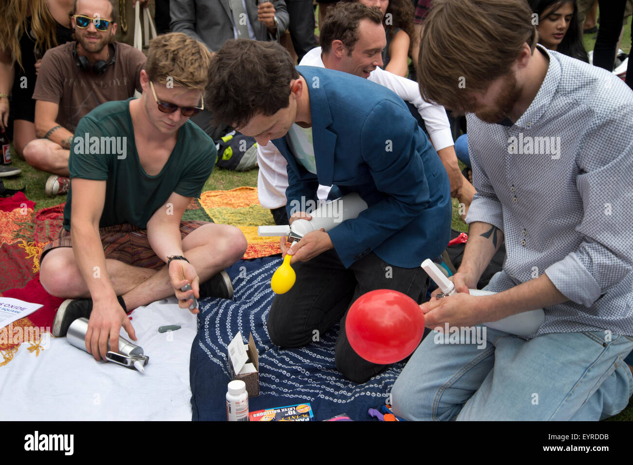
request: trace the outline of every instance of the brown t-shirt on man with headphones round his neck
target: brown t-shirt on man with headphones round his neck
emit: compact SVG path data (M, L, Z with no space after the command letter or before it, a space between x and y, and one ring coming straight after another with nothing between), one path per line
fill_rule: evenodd
M55 121L70 132L75 132L79 120L102 103L128 99L134 96L134 90L142 92L141 70L146 56L127 44L114 42L113 45L115 63L102 75L78 68L73 57L76 42L54 47L42 58L33 98L58 104L60 109Z

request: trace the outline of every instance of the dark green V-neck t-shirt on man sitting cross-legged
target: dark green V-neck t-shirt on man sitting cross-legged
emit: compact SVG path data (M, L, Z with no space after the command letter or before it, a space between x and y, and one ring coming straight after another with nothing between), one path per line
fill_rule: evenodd
M107 102L84 116L70 147L70 178L106 181L106 199L99 228L129 223L146 228L147 221L172 192L200 197L218 152L213 140L191 121L179 129L178 140L158 175L149 176L139 162L130 117L130 101ZM72 190L64 210L70 231Z

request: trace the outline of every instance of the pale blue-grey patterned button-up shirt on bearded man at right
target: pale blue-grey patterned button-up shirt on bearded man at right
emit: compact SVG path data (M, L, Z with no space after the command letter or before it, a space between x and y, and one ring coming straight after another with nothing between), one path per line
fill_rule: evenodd
M549 69L511 126L467 115L477 195L467 222L505 234L503 291L545 273L569 301L538 334L633 335L633 92L622 80L539 46Z

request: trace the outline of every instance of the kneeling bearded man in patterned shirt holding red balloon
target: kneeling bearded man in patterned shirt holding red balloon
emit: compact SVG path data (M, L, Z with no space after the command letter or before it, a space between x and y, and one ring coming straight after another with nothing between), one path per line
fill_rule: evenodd
M477 194L458 294L422 305L429 328L542 308L521 338L486 347L425 338L394 385L406 419L598 420L633 377L633 93L611 73L537 46L524 0L434 1L422 96L468 113ZM503 270L468 294L505 240Z

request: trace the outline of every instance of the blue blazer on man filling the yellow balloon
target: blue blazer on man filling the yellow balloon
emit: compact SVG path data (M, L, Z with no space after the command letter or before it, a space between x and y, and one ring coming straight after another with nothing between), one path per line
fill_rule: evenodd
M448 175L402 99L341 71L297 70L308 84L316 175L297 163L287 136L273 140L288 161L287 209L316 201L319 183L358 192L369 208L329 231L346 268L372 251L402 268L439 256L450 240Z

